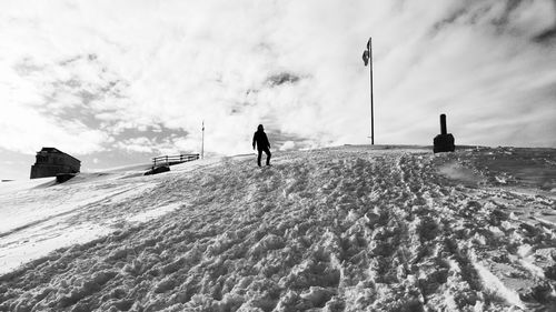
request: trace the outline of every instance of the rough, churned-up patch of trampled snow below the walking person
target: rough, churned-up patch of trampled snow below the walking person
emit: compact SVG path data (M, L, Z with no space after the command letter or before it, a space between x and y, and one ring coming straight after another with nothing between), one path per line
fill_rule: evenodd
M271 169L228 160L172 175L150 204L181 209L4 275L0 308L550 306L554 229L516 218L515 208L554 203L443 178L439 161L319 151L278 155Z

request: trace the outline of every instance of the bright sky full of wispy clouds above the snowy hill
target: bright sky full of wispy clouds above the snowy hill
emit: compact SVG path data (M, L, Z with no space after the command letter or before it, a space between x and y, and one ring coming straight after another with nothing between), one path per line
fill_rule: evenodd
M554 0L0 0L0 179L370 143L369 37L376 144L556 148Z

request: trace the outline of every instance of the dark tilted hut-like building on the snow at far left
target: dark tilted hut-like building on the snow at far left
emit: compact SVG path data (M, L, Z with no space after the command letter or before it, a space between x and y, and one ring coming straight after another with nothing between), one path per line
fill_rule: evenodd
M60 173L78 173L81 161L54 148L42 148L31 165L31 179L56 177Z

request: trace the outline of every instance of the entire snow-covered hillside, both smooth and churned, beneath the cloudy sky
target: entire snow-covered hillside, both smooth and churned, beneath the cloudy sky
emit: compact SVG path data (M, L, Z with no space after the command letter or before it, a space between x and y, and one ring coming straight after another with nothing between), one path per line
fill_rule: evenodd
M0 184L0 310L555 309L555 150L342 147L274 164Z

